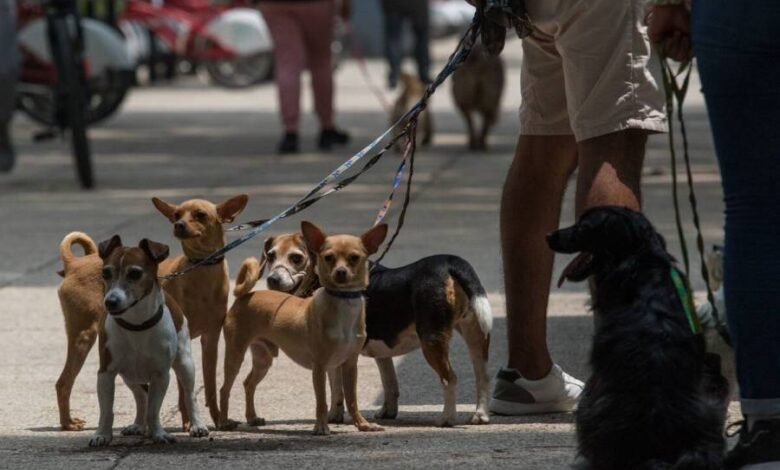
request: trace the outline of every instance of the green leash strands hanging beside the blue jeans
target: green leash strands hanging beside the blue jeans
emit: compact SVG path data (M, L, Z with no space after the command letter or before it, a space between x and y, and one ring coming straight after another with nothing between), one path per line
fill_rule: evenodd
M693 71L693 63L690 60L684 62L680 64L680 67L675 72L666 57L666 53L664 52L663 47L659 46L657 51L661 62L664 92L666 94L666 109L669 114L669 152L671 154L672 165L672 200L674 203L674 217L675 224L677 225L677 235L680 238L680 249L683 255L683 263L685 265L685 274L690 276L690 260L688 257L688 246L685 240L685 231L682 226L682 217L680 215L679 195L677 193L677 153L674 142L675 101L677 103L677 121L679 122L680 135L682 136L683 161L685 163L685 172L688 184L688 201L691 205L693 226L696 230L696 249L699 252L701 276L707 289L707 301L710 303L710 305L712 305L712 317L715 320L715 329L718 331L723 340L730 345L731 335L729 334L725 320L721 318L718 312L718 308L715 305L715 295L713 294L712 286L710 285L709 270L707 268L707 261L704 256L704 237L702 236L701 232L701 221L697 207L696 193L693 187L693 171L691 170L691 158L688 152L688 134L685 128L685 119L683 118L683 104L685 103L685 95L688 93L688 85L690 84L691 72ZM680 77L682 77L682 81L678 83L677 79Z

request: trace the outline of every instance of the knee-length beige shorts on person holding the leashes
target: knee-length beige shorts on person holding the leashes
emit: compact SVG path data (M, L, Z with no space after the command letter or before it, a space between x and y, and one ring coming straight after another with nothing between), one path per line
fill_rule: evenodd
M520 133L579 142L623 129L666 132L645 0L527 0ZM653 70L651 70L653 69Z

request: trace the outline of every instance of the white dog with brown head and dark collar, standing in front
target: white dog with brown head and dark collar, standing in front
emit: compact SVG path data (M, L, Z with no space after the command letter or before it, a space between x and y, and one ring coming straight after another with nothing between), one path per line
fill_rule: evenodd
M143 239L137 247L125 247L114 235L100 243L99 254L108 315L99 341L100 421L89 445L105 446L113 437L117 374L133 392L136 404L135 422L122 434L148 435L156 443L174 442L160 424L171 368L191 419L190 436L207 436L194 396L195 365L187 320L157 279L157 267L168 257L168 246Z

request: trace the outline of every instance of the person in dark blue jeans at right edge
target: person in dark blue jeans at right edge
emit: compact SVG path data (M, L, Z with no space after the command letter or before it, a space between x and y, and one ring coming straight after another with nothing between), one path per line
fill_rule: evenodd
M657 2L654 41L693 53L726 203L723 287L745 421L727 469L780 467L780 3ZM690 38L690 39L689 39Z

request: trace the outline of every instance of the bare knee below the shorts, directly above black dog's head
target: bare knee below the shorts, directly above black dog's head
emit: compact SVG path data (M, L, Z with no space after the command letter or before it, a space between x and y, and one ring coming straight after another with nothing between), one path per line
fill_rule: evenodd
M577 144L578 216L595 206L625 206L640 210L640 182L646 143L646 131L627 129Z

